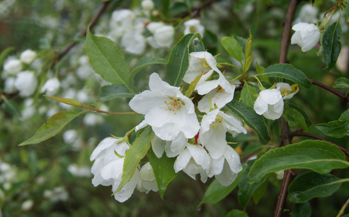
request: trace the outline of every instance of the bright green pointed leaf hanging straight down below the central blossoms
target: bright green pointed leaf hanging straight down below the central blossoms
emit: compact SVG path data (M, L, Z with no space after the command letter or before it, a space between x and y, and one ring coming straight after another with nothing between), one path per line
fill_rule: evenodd
M153 167L157 188L159 189L160 198L164 199L167 185L178 173L174 172L173 165L176 158L167 157L164 153L161 158L157 158L153 149L149 149L149 162Z

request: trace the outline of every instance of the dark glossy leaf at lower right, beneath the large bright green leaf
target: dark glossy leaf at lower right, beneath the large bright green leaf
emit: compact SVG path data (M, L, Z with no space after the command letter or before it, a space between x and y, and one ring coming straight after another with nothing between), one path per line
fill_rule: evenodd
M345 181L349 179L340 179L332 174L319 174L313 171L300 174L288 188L289 200L292 203L304 203L314 197L330 196Z

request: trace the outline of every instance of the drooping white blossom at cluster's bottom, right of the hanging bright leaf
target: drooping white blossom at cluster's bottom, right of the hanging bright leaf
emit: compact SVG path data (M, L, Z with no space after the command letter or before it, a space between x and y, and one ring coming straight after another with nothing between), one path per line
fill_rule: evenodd
M200 173L200 179L205 183L211 164L210 156L201 145L187 143L186 146L187 148L174 161L174 172L178 173L183 170L193 179L196 174Z

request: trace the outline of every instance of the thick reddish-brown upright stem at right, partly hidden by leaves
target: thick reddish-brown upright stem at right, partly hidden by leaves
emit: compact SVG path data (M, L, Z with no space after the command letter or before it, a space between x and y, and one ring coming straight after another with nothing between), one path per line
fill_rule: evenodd
M284 30L281 38L279 63L287 62L287 51L289 47L291 25L292 25L293 17L296 12L298 2L299 0L291 0L288 11L287 11L287 15L284 21ZM289 129L288 123L285 121L283 117L280 118L280 123L281 123L281 135L282 135L283 145L286 146L290 144L290 138L288 136L290 129ZM282 215L283 206L286 201L287 193L288 193L287 189L288 189L288 186L291 184L291 181L293 180L293 177L295 174L296 173L293 170L285 170L284 172L284 177L281 183L279 196L277 197L277 202L275 205L274 217L281 217Z

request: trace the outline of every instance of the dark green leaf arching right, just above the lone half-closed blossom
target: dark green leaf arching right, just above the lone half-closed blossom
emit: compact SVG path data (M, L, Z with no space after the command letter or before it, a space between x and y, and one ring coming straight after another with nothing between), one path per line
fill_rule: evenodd
M286 63L277 63L267 67L263 73L258 75L266 75L268 77L281 77L291 80L300 87L310 88L311 82L304 73L296 69L294 66Z

